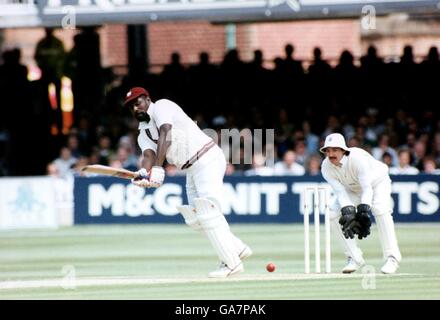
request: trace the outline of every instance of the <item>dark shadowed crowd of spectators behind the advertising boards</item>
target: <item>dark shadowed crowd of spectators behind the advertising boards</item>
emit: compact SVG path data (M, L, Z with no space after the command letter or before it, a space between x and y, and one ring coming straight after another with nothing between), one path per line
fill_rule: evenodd
M359 61L343 51L335 66L322 59L319 48L307 64L295 59L294 49L286 45L273 68L265 67L259 50L249 62L230 50L220 64L200 53L192 66L182 65L176 52L158 74L139 70L117 81L100 66L93 28L75 36L70 52L48 30L36 48L41 79L28 81L18 49L2 55L0 175L68 177L86 164L137 170L137 121L122 107L132 86L145 87L153 101L177 102L202 129L273 128L273 143L267 141L250 163L229 163L228 175L318 175L319 148L332 132L385 162L391 174L439 174L437 48L420 62L410 46L386 62L374 47ZM47 86L59 89L61 74L73 81L74 123L54 135L51 129L61 128L62 116L50 107ZM231 159L241 157L243 148L224 151ZM181 174L171 165L166 169Z

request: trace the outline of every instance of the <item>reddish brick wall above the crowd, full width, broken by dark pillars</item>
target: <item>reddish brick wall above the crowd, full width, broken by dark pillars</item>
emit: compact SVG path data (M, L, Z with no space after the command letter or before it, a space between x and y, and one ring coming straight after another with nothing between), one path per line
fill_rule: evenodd
M420 24L417 24L417 30L420 29ZM402 29L406 32L404 26ZM236 43L240 57L244 61L251 60L256 49L263 51L266 61L273 61L277 56L284 56L284 46L287 43L295 46L295 57L301 60L310 60L315 46L321 47L325 59L337 62L342 50L349 49L355 56L360 56L370 44L375 44L381 55L397 56L401 54L406 44L412 44L416 55L425 56L429 47L435 45L440 48L440 24L434 26L430 24L428 29L428 34L423 31L424 29L420 29L423 32L419 34L400 32L393 35L388 31L371 37L362 34L357 20L237 24ZM433 32L434 29L438 32ZM127 63L126 26L105 25L98 31L101 35L102 65L125 65ZM35 65L34 50L38 40L44 35L43 29L6 29L0 32L3 32L4 38L0 51L19 47L22 49L22 63L28 66ZM59 29L55 34L64 42L66 50L70 50L76 32L78 31ZM376 33L380 33L380 30ZM174 51L181 54L184 64L196 63L201 51L207 51L211 61L218 63L222 61L225 53L225 37L224 25L209 22L151 23L148 26L150 63L159 66L153 71L161 71L160 66L170 61L170 55ZM267 66L272 67L272 64L268 63Z

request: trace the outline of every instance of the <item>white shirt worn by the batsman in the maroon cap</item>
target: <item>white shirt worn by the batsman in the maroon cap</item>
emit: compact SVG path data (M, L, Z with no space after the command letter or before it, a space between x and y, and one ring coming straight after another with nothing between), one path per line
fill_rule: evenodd
M163 124L171 124L171 135L167 137L167 140L171 140L171 145L167 150L166 159L179 169L197 151L213 141L200 130L182 108L170 100L161 99L155 103L151 102L147 113L150 121L139 123L139 147L142 152L151 149L157 153L159 129Z

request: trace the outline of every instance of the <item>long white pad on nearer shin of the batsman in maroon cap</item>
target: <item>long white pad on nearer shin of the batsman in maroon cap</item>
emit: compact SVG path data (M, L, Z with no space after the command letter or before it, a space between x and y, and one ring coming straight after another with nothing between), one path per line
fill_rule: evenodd
M229 225L214 202L195 198L197 217L220 261L230 269L241 263Z

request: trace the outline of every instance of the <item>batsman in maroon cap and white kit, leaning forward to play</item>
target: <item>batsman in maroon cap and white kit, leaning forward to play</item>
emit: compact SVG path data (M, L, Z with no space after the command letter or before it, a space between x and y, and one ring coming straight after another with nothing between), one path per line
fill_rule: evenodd
M143 154L139 178L132 183L160 187L165 160L184 170L189 204L177 209L187 225L207 236L221 262L208 276L225 278L242 272L242 260L252 250L231 232L222 213L223 151L176 103L167 99L152 102L144 88L132 88L124 106L139 121L138 145Z

